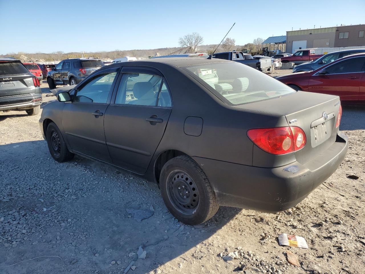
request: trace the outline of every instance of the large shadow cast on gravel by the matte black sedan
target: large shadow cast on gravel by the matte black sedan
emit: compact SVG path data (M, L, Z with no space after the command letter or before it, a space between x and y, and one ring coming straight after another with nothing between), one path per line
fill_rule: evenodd
M1 273L123 273L132 261L137 268L130 272L149 273L175 258L184 263L211 255L215 233L241 211L221 207L204 224L187 226L169 214L155 183L124 171L79 156L57 163L43 140L0 145L0 154L6 159L0 188L13 198L0 202L0 217L11 210L28 216L21 228L0 224L0 236L11 237L0 248ZM127 209L152 216L139 222ZM138 259L139 247L145 259ZM189 250L192 258L185 258ZM6 267L39 256L62 260Z

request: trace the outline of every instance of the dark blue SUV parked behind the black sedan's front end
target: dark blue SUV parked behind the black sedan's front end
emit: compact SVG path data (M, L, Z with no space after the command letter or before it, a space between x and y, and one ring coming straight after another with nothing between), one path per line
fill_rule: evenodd
M104 63L95 58L66 59L47 73L47 83L50 89L56 85L76 85L102 66Z

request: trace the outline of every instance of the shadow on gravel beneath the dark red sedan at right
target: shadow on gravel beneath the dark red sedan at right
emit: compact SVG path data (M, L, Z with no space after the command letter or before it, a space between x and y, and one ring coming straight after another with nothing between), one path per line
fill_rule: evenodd
M340 130L365 129L365 107L342 106Z

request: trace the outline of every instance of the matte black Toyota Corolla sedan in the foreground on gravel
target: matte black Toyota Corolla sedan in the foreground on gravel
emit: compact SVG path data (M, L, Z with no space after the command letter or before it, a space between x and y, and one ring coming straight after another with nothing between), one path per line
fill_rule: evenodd
M52 157L74 153L156 182L200 224L219 205L278 212L341 164L338 96L295 91L237 62L155 58L59 88L39 120Z

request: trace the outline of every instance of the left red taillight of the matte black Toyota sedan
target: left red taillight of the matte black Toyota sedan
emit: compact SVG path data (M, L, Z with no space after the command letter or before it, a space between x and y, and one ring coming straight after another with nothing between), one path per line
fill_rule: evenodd
M250 129L247 131L247 136L259 148L275 155L298 151L306 144L306 134L296 126Z

